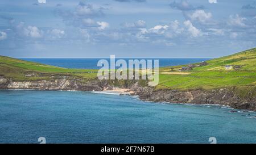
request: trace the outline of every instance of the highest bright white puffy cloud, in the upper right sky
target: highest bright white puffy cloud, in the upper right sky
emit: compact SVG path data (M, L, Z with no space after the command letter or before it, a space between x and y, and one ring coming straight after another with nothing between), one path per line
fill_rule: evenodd
M210 18L212 18L212 14L206 13L204 10L196 10L193 14L188 14L191 20L199 20L201 23L207 22Z

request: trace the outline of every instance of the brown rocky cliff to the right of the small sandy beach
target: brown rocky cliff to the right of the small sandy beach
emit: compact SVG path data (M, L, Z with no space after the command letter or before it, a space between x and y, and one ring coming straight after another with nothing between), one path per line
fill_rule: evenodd
M134 86L131 90L135 91L133 95L138 95L140 99L154 102L220 104L238 109L256 110L255 95L242 98L230 88L182 91Z

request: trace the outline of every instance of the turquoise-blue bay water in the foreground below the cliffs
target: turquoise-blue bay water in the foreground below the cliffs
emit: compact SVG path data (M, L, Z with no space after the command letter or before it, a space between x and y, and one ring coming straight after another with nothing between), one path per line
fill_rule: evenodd
M0 91L0 143L256 143L256 119L220 106L73 91Z

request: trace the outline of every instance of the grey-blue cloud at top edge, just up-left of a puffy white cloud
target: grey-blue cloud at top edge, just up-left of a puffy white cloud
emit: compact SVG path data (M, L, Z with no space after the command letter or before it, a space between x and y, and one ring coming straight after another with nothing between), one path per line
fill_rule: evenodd
M193 5L190 5L187 0L181 0L180 2L172 2L170 4L172 9L178 9L182 11L188 11L188 10L196 10L196 9L204 9L204 6L197 6L194 7Z

